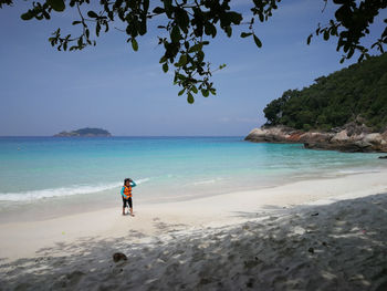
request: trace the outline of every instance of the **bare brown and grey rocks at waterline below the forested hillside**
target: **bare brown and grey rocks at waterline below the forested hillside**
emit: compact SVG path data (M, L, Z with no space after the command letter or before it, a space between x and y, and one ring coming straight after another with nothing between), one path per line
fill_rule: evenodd
M299 143L312 149L387 153L387 128L375 133L366 125L355 122L328 132L304 132L283 125L262 126L252 129L244 139L254 143Z

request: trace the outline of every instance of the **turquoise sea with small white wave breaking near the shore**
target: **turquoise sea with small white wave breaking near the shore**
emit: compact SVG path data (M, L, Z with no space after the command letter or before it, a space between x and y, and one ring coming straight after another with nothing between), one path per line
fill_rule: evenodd
M0 137L0 210L70 201L119 205L126 177L138 184L136 202L191 199L386 168L378 156L243 137Z

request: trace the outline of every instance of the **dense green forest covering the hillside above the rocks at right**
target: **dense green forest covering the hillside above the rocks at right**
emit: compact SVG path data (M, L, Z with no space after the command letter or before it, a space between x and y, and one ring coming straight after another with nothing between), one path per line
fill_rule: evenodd
M263 110L268 124L330 129L363 117L375 131L387 125L387 53L351 65L301 91L289 90Z

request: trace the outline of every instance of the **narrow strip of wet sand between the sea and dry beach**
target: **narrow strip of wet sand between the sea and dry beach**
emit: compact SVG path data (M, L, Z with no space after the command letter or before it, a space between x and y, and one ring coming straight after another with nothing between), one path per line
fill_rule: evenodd
M308 181L308 180L321 180L321 179L339 179L347 176L356 175L367 175L367 174L377 174L386 173L387 168L378 167L377 169L363 168L363 169L349 169L349 170L338 170L338 172L323 172L323 173L312 173L307 175L294 175L294 176L284 176L272 180L269 184L258 186L245 186L241 190L232 190L231 193L212 193L212 194L189 194L182 196L166 196L161 197L150 197L150 198L138 198L135 197L135 206L158 206L158 205L168 205L174 202L189 202L202 198L211 198L223 195L231 195L232 193L251 193L251 191L263 191L266 189L273 189L276 187L286 187L299 181ZM281 180L282 179L282 180ZM220 186L218 186L220 187ZM136 189L137 190L137 189ZM118 189L117 189L118 193ZM75 198L75 199L74 199ZM90 201L93 198L93 204ZM104 209L119 209L122 202L121 197L115 195L112 198L112 194L103 194L103 196L96 196L93 194L86 195L74 195L74 196L62 196L62 197L52 197L52 198L42 198L32 201L11 202L9 209L2 209L0 214L0 226L6 224L17 224L25 220L29 221L44 221L51 219L59 219L62 217L69 217L73 215L94 212Z

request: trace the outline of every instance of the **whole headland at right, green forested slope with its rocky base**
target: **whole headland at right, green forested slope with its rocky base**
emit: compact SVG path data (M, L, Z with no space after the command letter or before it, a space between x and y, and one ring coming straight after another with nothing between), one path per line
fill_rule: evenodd
M268 122L245 141L306 148L387 152L387 53L289 90L263 110Z

